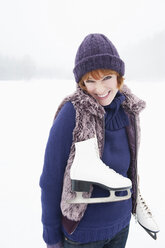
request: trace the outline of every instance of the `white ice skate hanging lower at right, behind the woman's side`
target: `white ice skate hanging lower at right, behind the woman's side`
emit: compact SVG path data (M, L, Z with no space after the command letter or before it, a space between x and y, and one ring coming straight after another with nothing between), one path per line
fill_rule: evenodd
M136 218L139 224L147 231L147 233L153 239L157 239L156 234L159 232L159 228L151 214L151 211L143 200L140 191L138 191L137 197Z

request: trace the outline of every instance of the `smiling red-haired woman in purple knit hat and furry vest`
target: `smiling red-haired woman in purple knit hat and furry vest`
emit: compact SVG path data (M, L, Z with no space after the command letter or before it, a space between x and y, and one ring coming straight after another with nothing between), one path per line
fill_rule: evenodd
M73 72L77 89L63 100L56 112L40 178L43 238L50 248L124 248L131 213L137 215L137 209L138 213L146 209L137 185L139 113L145 102L123 83L124 62L103 34L89 34L84 38L76 54ZM92 151L92 146L86 149L84 146L80 155L75 147L93 137L98 141L100 161L109 168L107 173L111 170L120 174L122 183L125 180L127 185L125 188L130 187L131 180L131 198L105 202L103 198L109 197L108 187L102 187L104 183L93 183L90 192L84 194L87 203L82 203L82 199L81 203L73 203L73 199L77 199L73 189L81 187L80 184L71 185L74 158L83 159L82 154L88 158ZM96 171L91 169L94 163L86 164L87 174L92 171L95 175ZM112 182L110 174L109 181ZM118 180L116 174L114 178ZM116 195L125 197L125 191ZM88 204L92 198L102 198L102 202ZM137 208L139 204L140 208ZM148 210L139 215L138 221L156 233L156 224L152 218L146 222L146 215L149 216Z

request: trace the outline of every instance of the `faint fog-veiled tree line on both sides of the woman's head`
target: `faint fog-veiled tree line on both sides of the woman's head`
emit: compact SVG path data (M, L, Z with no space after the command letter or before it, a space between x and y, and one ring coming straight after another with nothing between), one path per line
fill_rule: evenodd
M165 30L136 44L128 44L119 52L126 65L128 80L165 80ZM70 56L71 57L71 56ZM72 58L60 62L58 55L49 66L38 66L30 55L21 58L0 54L0 80L32 78L73 78Z

